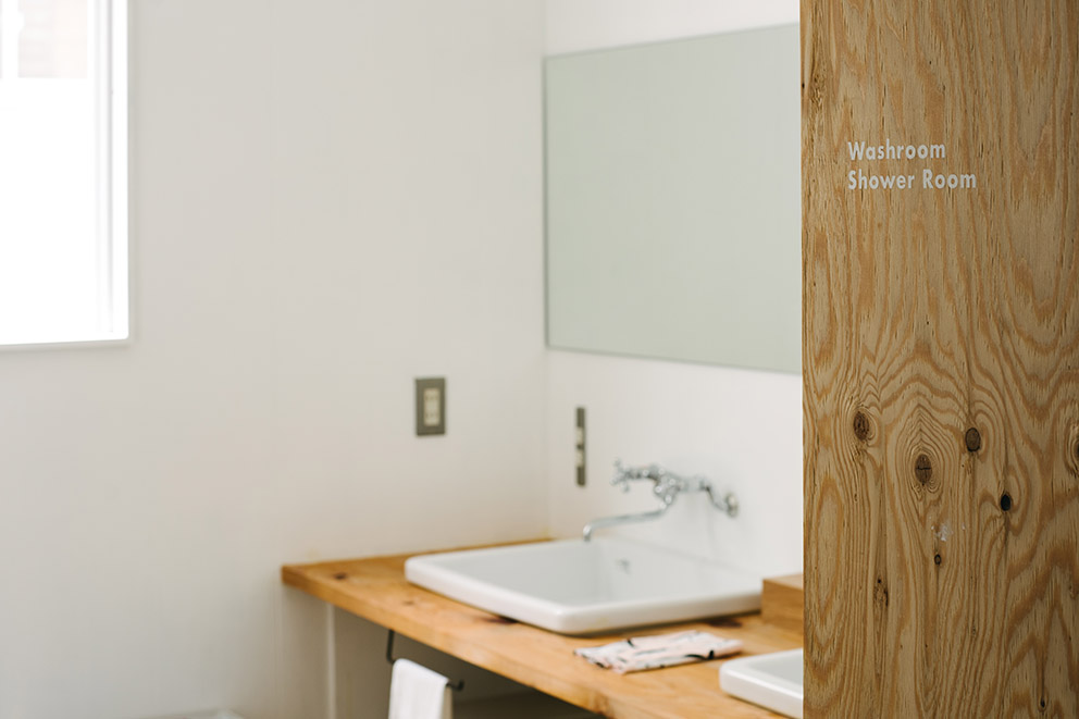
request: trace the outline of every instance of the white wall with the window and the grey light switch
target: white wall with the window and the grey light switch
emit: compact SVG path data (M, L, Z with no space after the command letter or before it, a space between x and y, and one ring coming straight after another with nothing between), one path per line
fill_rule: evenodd
M0 354L0 718L324 717L282 562L546 529L543 8L132 4L134 340Z

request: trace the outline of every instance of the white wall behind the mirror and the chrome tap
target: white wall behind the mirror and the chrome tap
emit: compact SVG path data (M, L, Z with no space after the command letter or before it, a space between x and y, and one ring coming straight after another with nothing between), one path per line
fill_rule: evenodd
M547 0L546 11L548 54L798 22L796 0ZM730 520L703 496L686 495L659 522L624 533L766 575L801 571L799 377L550 351L547 406L554 534L575 535L595 517L654 509L645 485L623 495L608 482L616 458L657 462L733 489L741 513ZM574 483L578 406L587 410L584 488Z

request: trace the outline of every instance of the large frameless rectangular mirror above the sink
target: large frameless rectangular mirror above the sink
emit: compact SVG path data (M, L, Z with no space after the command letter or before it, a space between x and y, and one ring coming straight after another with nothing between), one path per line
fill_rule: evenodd
M797 25L545 74L548 344L799 372Z

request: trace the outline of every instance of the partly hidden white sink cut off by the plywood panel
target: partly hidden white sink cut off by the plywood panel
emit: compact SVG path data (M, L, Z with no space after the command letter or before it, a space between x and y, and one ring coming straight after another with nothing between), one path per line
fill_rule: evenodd
M731 659L719 668L719 686L746 702L802 719L802 649Z

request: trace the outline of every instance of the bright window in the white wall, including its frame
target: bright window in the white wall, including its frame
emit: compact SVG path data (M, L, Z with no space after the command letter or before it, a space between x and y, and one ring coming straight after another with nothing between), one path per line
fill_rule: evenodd
M0 344L127 336L126 0L0 0Z

